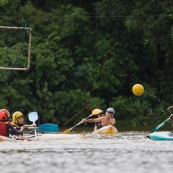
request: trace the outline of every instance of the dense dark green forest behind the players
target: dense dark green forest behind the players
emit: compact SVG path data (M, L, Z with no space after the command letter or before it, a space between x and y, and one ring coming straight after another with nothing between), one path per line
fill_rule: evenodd
M64 127L113 107L120 129L171 114L172 0L0 0L0 26L32 28L30 69L0 70L0 108L11 114L37 111L38 124ZM1 67L20 66L3 46L19 36L0 28ZM132 93L137 83L141 96Z

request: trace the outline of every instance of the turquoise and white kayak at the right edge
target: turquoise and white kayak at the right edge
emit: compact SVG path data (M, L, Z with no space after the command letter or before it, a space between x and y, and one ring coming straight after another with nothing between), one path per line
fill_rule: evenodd
M154 132L147 137L157 141L173 141L173 132Z

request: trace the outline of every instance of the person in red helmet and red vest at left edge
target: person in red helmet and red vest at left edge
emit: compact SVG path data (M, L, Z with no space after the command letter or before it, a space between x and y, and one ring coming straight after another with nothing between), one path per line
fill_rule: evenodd
M9 131L21 135L23 129L17 130L10 124L10 113L6 109L0 110L0 135L9 137Z

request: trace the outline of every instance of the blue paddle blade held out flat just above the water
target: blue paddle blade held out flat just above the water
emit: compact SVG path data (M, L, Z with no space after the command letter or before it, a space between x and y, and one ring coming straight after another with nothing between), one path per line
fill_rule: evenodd
M42 132L58 132L59 131L59 127L57 124L52 124L52 123L46 123L46 124L41 124L39 127L37 127L38 130L42 131Z

